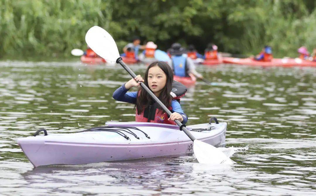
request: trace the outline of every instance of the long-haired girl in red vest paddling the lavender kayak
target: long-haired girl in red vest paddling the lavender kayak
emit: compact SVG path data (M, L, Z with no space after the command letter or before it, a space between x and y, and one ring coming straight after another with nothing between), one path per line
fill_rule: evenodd
M134 86L139 86L143 82L159 100L172 112L170 117L143 89L138 88L137 92L127 91ZM178 119L185 124L188 120L178 101L173 100L170 95L173 82L173 73L170 66L157 61L150 64L145 72L145 80L138 75L131 79L113 93L113 98L117 101L136 104L136 122L155 122L175 125L174 120Z

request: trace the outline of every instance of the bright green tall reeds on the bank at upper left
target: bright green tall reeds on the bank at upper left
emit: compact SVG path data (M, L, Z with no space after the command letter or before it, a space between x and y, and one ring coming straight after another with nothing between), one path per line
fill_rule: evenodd
M56 56L84 48L93 25L107 27L101 0L0 1L0 55Z

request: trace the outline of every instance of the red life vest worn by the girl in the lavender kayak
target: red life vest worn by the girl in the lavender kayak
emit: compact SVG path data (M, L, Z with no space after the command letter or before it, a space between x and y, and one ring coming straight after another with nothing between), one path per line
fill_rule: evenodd
M153 118L149 119L144 117L145 109L142 113L138 114L137 108L136 108L136 116L135 121L136 122L152 122L152 123L162 123L162 124L169 124L169 125L176 125L176 123L173 120L168 120L168 115L163 110L158 109L158 104L155 103L153 105L150 105L147 109L147 117L152 116L155 112L155 115ZM168 108L169 110L172 110L172 107Z

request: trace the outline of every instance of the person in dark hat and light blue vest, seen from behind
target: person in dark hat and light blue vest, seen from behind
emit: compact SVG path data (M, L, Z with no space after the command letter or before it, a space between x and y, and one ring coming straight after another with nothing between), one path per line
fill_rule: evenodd
M195 70L194 62L186 55L186 51L182 48L181 44L172 44L169 52L171 55L171 61L168 62L168 64L173 69L174 75L180 77L190 77L190 75L193 74L197 78L203 79L203 76Z

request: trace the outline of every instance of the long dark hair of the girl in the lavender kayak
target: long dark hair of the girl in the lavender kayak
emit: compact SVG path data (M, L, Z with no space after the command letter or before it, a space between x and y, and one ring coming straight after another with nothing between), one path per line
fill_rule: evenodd
M171 67L166 62L156 61L150 64L145 72L144 84L149 88L147 81L148 71L154 66L158 66L161 70L163 70L163 72L165 72L167 76L166 85L165 87L163 87L158 98L166 107L170 107L172 101L172 96L170 95L170 92L172 89L173 72ZM152 105L155 102L154 99L151 98L151 96L142 87L139 87L137 95L138 96L136 98L137 101L135 107L137 108L138 114L142 113L144 108Z

